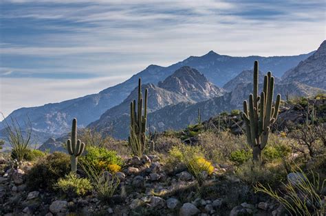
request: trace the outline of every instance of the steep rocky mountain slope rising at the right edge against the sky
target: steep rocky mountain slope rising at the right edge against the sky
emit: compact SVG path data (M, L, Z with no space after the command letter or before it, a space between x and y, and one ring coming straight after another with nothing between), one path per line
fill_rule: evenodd
M301 82L326 89L326 40L317 51L282 76L283 82Z

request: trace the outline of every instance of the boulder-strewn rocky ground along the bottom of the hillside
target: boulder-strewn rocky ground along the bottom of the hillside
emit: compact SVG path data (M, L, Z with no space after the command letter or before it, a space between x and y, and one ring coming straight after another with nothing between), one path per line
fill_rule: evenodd
M127 160L118 172L120 186L107 204L94 195L67 198L49 191L28 191L25 173L1 159L1 215L281 215L282 206L255 195L232 176L232 167L215 165L204 190L197 191L188 171L169 173L155 155ZM263 200L265 199L265 200Z

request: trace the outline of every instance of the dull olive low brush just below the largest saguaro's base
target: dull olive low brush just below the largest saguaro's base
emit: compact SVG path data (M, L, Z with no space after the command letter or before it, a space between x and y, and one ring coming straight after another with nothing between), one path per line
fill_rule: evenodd
M237 167L236 175L248 184L255 185L258 182L265 182L268 184L279 184L280 180L286 177L286 171L281 163L261 163L248 160L243 165Z

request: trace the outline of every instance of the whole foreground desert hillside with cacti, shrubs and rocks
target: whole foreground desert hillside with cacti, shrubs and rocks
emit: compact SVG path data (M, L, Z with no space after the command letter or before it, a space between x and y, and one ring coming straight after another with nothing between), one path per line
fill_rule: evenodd
M149 132L141 80L128 141L78 130L73 119L66 151L41 152L13 119L0 215L325 214L326 95L274 101L274 77L265 75L258 95L258 71L254 62L243 112L202 121L198 109L197 123L180 131ZM289 110L305 121L279 121Z

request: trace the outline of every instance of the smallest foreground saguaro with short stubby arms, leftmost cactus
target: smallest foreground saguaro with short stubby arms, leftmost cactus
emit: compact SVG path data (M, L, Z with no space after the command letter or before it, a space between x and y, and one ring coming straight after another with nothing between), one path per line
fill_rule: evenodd
M77 171L77 158L83 154L85 149L85 143L82 143L79 139L77 140L77 119L72 120L72 139L67 140L67 150L70 154L70 165L72 171Z

